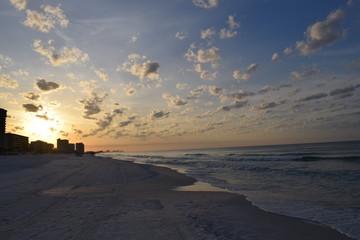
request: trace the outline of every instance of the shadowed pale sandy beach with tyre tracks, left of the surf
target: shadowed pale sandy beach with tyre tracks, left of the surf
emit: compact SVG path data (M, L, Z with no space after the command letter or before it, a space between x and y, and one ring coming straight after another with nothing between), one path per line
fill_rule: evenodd
M1 239L350 239L174 170L94 156L0 156Z

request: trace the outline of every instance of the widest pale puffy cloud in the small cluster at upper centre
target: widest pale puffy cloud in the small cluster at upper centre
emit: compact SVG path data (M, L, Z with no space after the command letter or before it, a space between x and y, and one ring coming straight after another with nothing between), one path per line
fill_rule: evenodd
M199 49L197 52L194 51L195 48L195 44L190 45L188 51L184 55L186 60L197 63L211 63L214 66L220 59L220 49L217 47Z

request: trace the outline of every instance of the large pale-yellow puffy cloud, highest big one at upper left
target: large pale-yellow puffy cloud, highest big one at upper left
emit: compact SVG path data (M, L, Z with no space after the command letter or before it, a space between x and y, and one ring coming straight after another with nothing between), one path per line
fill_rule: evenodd
M56 24L59 24L61 27L67 27L69 20L64 15L60 6L41 6L44 10L43 13L35 10L26 10L27 16L24 25L46 33L55 28Z

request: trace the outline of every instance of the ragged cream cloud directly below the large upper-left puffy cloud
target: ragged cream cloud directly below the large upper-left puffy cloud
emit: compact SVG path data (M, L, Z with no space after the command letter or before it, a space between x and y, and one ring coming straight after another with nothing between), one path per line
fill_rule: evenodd
M78 48L64 47L61 51L57 51L53 44L53 40L49 40L47 46L42 45L40 40L35 40L33 44L34 51L47 57L52 66L60 66L65 63L76 63L80 61L85 62L89 60L89 55L83 53Z

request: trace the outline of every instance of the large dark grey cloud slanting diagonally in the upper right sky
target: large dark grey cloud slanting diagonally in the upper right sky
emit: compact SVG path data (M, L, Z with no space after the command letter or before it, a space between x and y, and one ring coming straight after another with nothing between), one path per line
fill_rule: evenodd
M346 30L338 30L344 18L345 12L341 9L331 12L326 20L316 22L308 27L305 32L306 40L297 42L295 49L300 55L307 56L340 38L344 38Z

